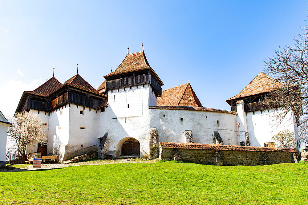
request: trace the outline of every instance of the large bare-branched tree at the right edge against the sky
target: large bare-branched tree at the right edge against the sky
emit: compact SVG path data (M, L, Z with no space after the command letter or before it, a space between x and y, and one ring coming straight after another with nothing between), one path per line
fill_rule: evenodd
M295 45L275 51L265 61L263 71L276 81L276 89L263 101L263 108L284 108L277 117L284 119L293 111L299 127L300 143L308 142L308 26L294 37Z

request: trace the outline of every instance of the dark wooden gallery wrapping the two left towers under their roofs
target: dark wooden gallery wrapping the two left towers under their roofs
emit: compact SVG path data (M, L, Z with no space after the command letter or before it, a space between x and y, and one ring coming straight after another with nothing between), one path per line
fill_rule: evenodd
M33 109L33 110L38 110L38 111L43 111L43 112L50 112L68 103L97 109L99 105L103 103L103 101L99 101L91 97L79 95L77 93L67 92L57 97L56 99L52 100L51 102L43 102L43 101L38 101L38 100L33 100L33 99L27 99L22 110Z

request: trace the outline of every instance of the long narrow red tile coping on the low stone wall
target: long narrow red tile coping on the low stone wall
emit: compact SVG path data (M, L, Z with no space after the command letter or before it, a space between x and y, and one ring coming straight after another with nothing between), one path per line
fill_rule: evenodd
M227 144L195 144L195 143L173 143L160 142L162 148L172 149L201 149L201 150L227 150L227 151L256 151L256 152L298 152L296 149L276 147L250 147Z

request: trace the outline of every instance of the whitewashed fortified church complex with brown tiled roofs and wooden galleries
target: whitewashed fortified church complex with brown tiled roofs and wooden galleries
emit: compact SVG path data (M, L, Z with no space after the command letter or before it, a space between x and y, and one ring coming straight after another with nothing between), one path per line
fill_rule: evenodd
M294 113L277 126L272 116L281 110L258 108L260 98L275 89L262 72L227 100L233 111L203 107L189 83L162 92L163 83L143 51L128 54L104 78L98 89L76 74L64 84L52 77L25 91L16 112L35 112L48 124L47 145L27 152L60 161L93 150L107 157L155 157L160 141L268 146L285 129L294 132L298 143Z

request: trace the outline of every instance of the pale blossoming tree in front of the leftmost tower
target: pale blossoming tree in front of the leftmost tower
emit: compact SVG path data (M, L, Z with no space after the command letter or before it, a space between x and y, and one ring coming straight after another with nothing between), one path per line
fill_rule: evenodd
M42 124L39 116L32 112L16 113L10 121L13 125L8 128L8 136L12 137L17 151L26 161L27 146L46 143L47 136L44 132L47 125Z

